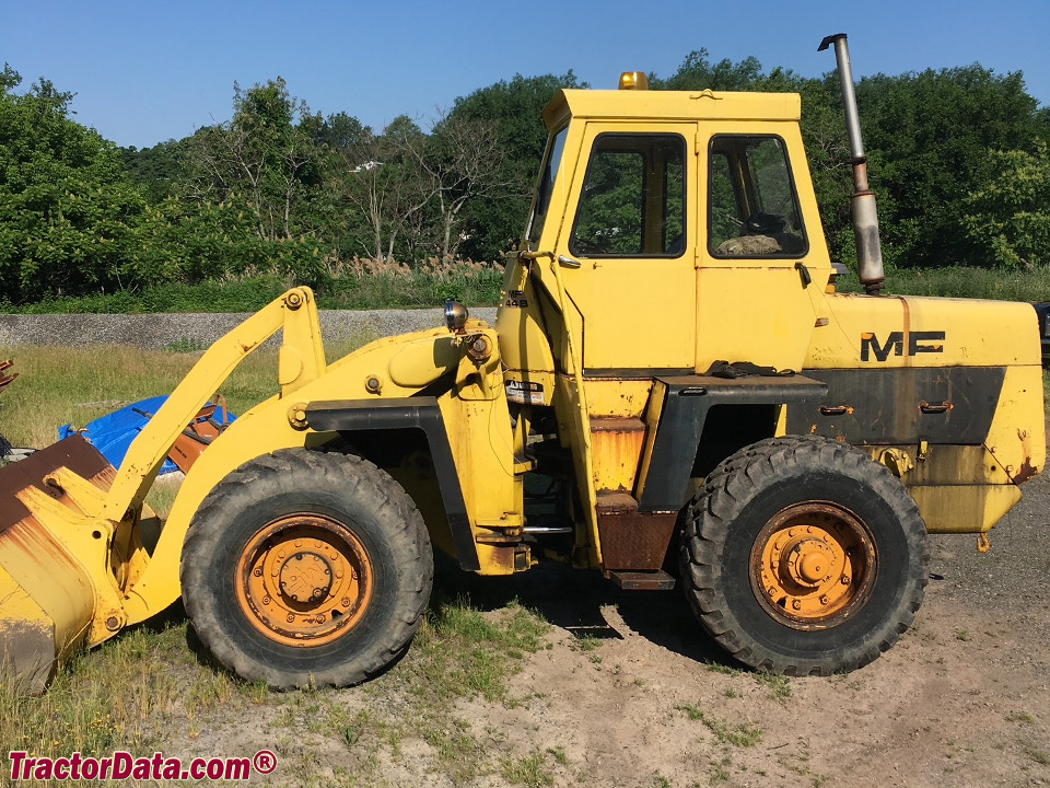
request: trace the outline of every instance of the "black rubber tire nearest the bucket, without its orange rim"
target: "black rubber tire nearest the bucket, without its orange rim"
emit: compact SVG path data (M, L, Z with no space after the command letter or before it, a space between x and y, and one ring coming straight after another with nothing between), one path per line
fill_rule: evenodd
M325 514L350 528L374 575L363 618L312 648L267 638L234 594L241 549L268 522L292 513ZM201 642L242 679L278 690L350 686L383 671L419 628L433 575L423 519L389 474L352 454L306 449L256 457L220 482L190 523L179 567L186 613Z

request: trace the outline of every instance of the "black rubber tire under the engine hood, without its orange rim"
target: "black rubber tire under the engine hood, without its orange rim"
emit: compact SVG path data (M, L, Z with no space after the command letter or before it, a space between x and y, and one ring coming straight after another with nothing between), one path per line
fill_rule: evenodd
M849 618L807 631L777 622L748 578L755 538L770 517L804 500L845 506L871 529L872 595ZM687 512L682 588L707 631L737 660L785 675L829 675L867 664L911 625L928 582L926 529L908 490L863 452L817 436L770 438L724 460Z

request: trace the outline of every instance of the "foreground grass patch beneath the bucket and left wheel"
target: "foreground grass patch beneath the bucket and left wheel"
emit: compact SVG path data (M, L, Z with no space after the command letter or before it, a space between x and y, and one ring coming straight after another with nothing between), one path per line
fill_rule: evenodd
M465 598L438 599L408 656L351 694L366 705L355 710L338 691L275 694L214 668L191 648L189 625L176 613L161 628L135 627L79 656L42 697L20 696L0 681L0 752L152 752L173 738L194 740L206 729L261 717L272 721L278 741L278 733L294 732L289 758L310 755L308 735L331 739L355 760L359 776L378 768L381 750L396 760L400 742L412 738L431 746L435 765L456 785L504 774L518 785L548 786L551 763L567 762L563 750L510 756L456 712L462 698L506 698L525 653L542 648L548 628L513 603L485 614Z

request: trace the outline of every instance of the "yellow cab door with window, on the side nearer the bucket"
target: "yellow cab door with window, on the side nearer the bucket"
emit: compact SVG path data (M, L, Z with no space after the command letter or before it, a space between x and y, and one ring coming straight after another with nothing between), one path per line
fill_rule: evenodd
M693 368L695 144L695 124L586 126L555 253L585 376Z

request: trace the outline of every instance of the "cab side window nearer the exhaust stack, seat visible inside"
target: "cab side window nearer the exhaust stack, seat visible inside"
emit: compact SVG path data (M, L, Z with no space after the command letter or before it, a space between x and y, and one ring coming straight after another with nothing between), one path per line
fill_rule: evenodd
M708 251L715 257L801 257L808 251L779 137L723 135L708 162Z

